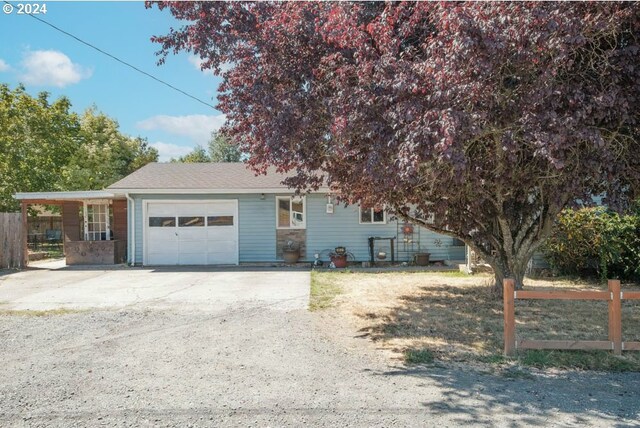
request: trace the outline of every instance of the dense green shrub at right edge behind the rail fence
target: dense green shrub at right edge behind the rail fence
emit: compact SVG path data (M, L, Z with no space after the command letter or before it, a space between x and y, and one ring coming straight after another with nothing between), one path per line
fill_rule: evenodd
M604 207L565 210L543 247L559 273L640 279L640 212Z

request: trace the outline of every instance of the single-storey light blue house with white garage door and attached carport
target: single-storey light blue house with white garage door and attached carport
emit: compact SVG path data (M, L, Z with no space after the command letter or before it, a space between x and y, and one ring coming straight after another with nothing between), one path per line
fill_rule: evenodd
M395 238L397 261L421 250L432 260L464 261L464 245L384 211L337 204L328 188L296 196L276 173L242 163L152 163L103 191L18 193L28 204L62 205L67 263L217 265L282 261L288 241L301 260L335 247L370 258L369 238ZM390 254L390 240L374 254ZM390 257L387 258L389 260Z

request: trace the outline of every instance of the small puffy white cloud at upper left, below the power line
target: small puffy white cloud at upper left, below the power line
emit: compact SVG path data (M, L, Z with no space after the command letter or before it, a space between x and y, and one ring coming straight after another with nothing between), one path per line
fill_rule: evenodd
M28 51L22 60L20 78L29 85L52 85L63 88L91 76L92 71L59 51Z

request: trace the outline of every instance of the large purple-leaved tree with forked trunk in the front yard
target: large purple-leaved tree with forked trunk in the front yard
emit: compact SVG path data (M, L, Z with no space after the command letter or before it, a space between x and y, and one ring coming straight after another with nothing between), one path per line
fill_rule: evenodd
M638 3L147 6L186 22L153 38L160 63L189 51L222 75L257 172L459 238L498 288L522 286L563 208L638 194Z

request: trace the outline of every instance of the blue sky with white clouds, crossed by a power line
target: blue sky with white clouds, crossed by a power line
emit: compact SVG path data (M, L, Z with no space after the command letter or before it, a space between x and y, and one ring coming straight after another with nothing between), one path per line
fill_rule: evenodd
M188 153L206 144L224 116L144 76L28 15L0 13L0 82L12 88L23 83L33 95L67 96L78 113L95 105L116 119L120 130L142 136L160 152L160 160ZM162 35L180 23L167 10L145 9L143 2L46 3L40 18L128 62L183 91L216 105L220 83L202 72L188 53L170 55L156 65ZM4 4L3 4L4 5Z

